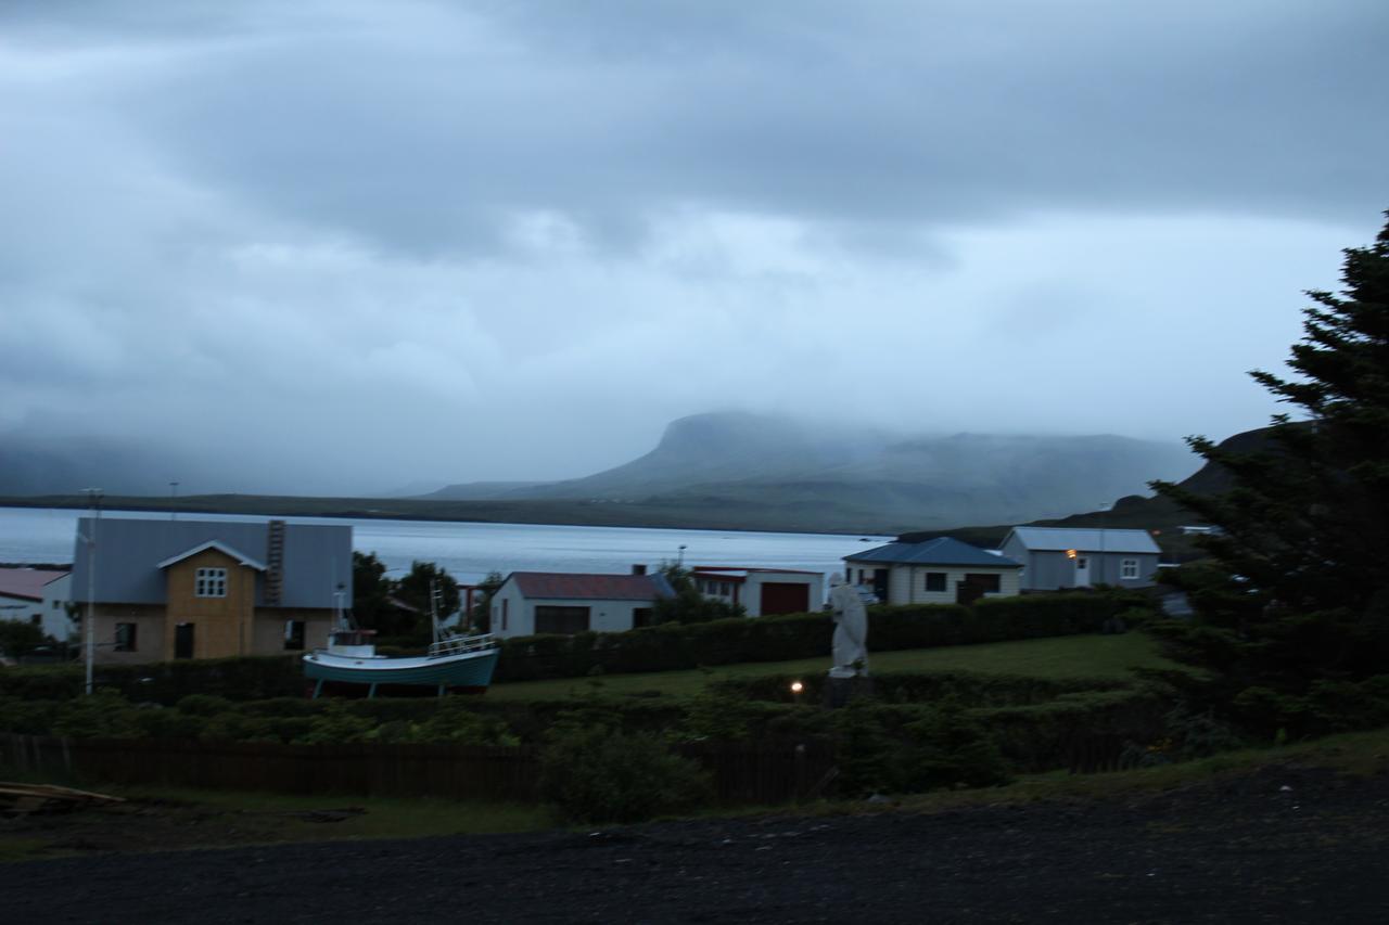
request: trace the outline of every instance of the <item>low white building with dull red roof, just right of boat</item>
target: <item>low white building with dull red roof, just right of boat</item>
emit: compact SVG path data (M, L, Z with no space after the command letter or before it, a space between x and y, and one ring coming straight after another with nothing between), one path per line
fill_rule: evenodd
M622 632L651 624L651 608L675 592L664 575L511 572L492 596L492 633Z

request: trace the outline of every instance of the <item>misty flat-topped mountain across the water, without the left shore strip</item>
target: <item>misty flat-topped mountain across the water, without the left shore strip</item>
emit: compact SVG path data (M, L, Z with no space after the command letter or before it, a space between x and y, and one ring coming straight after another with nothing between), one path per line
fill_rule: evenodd
M700 414L672 422L650 453L596 475L454 485L425 497L679 507L724 521L882 531L1064 517L1192 468L1195 457L1179 444L1120 436L892 439L765 415Z

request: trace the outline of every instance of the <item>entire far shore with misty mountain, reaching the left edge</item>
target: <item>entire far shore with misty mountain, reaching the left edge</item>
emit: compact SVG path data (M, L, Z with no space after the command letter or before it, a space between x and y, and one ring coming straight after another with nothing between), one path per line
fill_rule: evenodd
M1068 517L1195 468L1196 457L1181 444L1111 435L895 438L825 422L701 414L672 422L651 451L631 462L564 482L476 482L385 499L189 493L179 506L208 512L899 533ZM163 485L118 499L113 496L121 492L106 482L113 507L168 508ZM0 499L4 503L75 506L81 499Z

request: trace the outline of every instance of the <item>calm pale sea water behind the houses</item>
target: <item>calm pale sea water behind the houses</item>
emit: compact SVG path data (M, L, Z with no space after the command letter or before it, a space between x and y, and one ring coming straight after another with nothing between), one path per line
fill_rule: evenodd
M85 511L0 507L0 562L71 562L76 521ZM103 511L101 517L154 517ZM182 514L188 519L265 521L233 514ZM749 565L838 571L850 553L890 542L885 536L825 533L749 533L646 529L631 526L550 526L539 524L444 524L286 517L292 524L351 524L353 547L375 553L393 575L421 560L438 562L464 583L488 572L628 572L636 562L656 565L681 556L686 565Z

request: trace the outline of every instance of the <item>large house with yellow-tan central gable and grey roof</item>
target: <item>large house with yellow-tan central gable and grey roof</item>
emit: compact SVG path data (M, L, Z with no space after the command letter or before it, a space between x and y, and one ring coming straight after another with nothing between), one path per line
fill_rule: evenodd
M72 589L100 662L315 649L351 607L351 526L85 517Z

